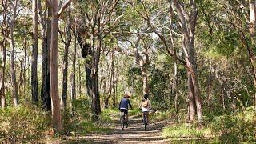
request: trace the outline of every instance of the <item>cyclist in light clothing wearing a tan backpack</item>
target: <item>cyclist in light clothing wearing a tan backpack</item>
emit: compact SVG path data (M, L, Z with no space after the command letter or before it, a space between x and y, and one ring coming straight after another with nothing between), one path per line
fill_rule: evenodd
M139 106L139 108L142 110L142 122L143 122L143 118L144 118L144 114L146 116L147 119L147 124L149 123L149 112L151 110L151 102L149 100L149 94L144 94L144 99L142 99L142 102Z

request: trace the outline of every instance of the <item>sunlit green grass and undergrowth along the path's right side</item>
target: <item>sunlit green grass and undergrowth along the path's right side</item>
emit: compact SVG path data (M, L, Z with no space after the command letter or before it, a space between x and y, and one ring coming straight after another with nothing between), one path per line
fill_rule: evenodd
M161 115L165 114L158 117ZM210 138L211 143L256 142L256 114L251 109L222 115L212 113L204 116L202 128L198 129L197 125L177 122L166 127L162 135L168 138Z

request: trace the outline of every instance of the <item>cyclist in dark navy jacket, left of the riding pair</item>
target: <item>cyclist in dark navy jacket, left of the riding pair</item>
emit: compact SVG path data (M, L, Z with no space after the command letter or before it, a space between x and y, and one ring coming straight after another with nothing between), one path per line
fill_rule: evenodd
M129 98L130 94L126 93L119 103L119 110L126 115L126 127L128 126L128 106L132 109Z

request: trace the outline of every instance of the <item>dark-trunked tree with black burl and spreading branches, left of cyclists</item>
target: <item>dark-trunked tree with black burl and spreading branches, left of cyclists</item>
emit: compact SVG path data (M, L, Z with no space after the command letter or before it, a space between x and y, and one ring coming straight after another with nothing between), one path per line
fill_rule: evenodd
M101 113L98 86L98 66L102 51L102 42L106 35L119 27L116 7L119 0L78 1L78 42L82 48L82 57L86 58L86 88L90 96L92 119L98 119Z

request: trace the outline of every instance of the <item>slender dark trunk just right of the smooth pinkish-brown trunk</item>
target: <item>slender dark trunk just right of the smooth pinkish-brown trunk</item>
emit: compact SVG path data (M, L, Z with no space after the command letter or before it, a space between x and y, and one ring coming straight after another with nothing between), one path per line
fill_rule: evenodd
M69 6L69 15L68 15L68 24L67 24L67 42L65 43L65 49L64 49L64 58L63 58L63 63L64 63L64 68L63 68L63 82L62 82L62 104L64 108L66 108L66 100L67 100L67 69L68 69L68 54L69 54L69 47L70 47L70 42L71 42L71 23L70 23L70 18L71 18L71 7Z

